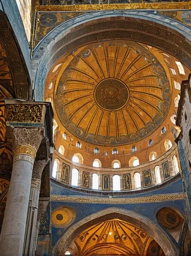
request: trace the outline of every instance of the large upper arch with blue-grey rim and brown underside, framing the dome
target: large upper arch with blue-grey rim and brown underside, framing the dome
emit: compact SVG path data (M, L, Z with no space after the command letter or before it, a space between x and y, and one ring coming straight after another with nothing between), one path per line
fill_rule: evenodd
M95 40L114 38L149 44L172 54L188 68L191 67L189 31L171 18L131 10L123 14L117 10L84 14L57 26L35 48L32 61L35 99L43 100L41 84L44 84L47 72L60 56Z

